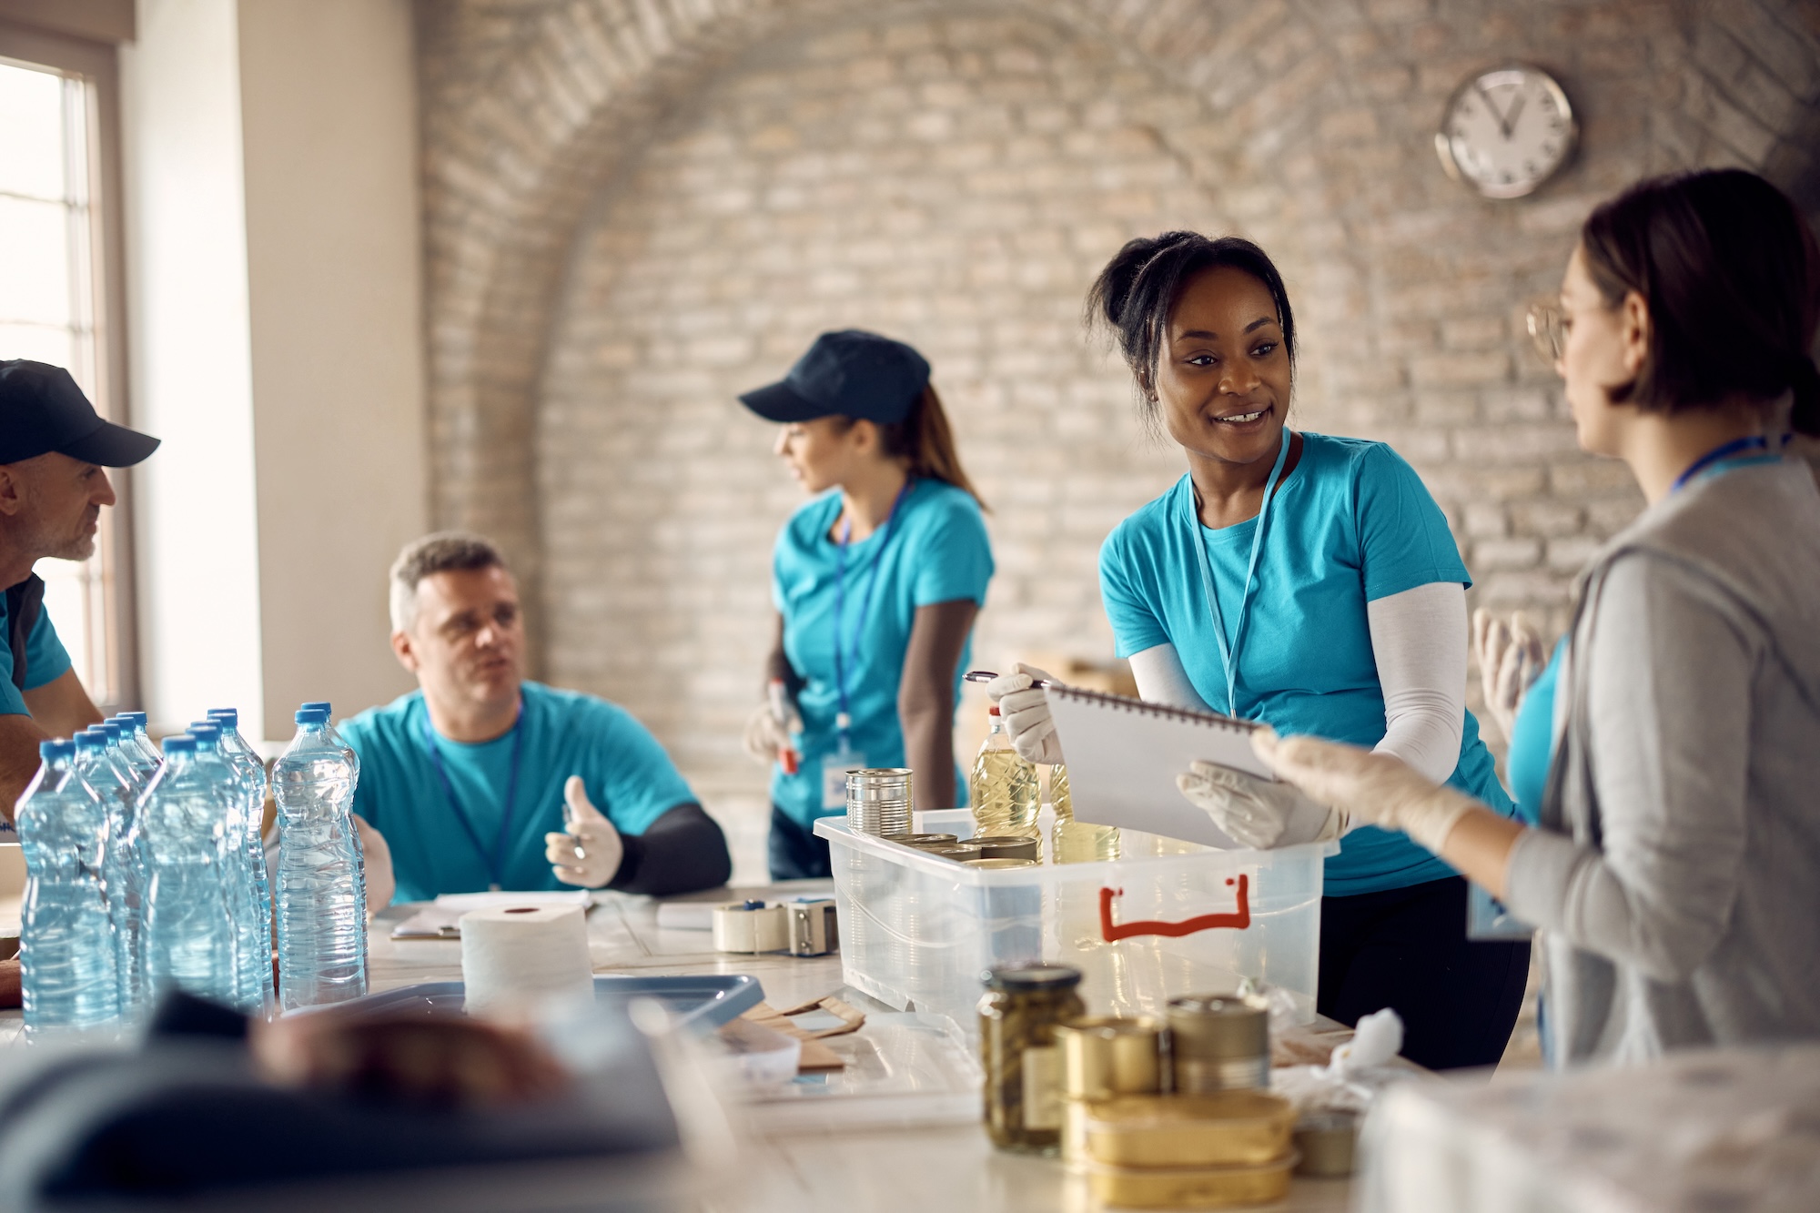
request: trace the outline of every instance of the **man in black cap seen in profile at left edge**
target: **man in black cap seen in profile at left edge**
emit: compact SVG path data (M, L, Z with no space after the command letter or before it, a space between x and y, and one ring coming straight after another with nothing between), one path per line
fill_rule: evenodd
M107 468L127 468L158 439L102 421L60 366L0 361L0 814L38 770L38 743L100 721L44 612L46 557L95 556ZM4 1000L0 991L0 1000Z

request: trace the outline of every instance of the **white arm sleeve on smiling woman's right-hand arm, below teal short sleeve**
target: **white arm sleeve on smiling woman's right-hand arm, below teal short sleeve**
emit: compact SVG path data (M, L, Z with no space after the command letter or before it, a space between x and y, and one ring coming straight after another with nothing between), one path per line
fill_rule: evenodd
M1367 603L1365 617L1383 687L1385 729L1376 749L1445 783L1460 765L1467 716L1467 590L1431 581Z

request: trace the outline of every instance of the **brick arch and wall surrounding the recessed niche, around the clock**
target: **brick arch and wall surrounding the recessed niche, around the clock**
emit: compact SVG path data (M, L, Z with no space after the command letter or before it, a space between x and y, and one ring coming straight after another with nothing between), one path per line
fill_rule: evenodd
M539 410L562 386L550 342L571 321L588 233L612 226L601 209L763 47L945 13L1059 24L1198 100L1207 120L1154 127L1152 158L1290 270L1310 421L1416 463L1478 594L1502 603L1558 610L1572 568L1636 510L1622 468L1574 452L1520 330L1585 209L1643 173L1702 164L1762 168L1820 209L1820 29L1793 2L424 0L439 523L493 532L528 588L546 585L544 535L566 523L539 505ZM1511 55L1554 71L1583 120L1578 162L1514 206L1443 180L1429 146L1451 87ZM997 526L1017 523L1006 510ZM1050 557L1036 543L1017 559ZM626 641L644 643L613 637Z

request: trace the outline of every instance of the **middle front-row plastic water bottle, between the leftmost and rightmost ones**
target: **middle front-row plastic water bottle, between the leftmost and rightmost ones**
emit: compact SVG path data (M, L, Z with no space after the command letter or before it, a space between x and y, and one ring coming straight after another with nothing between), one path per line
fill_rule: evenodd
M226 789L197 761L197 739L167 738L164 767L138 801L151 882L146 892L146 974L153 989L175 985L235 1005L235 922L222 869Z

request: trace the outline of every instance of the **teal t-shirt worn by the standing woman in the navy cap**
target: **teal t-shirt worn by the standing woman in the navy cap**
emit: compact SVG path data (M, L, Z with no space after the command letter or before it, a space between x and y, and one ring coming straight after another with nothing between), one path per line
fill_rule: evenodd
M774 770L772 801L803 825L839 812L823 809L821 794L823 758L839 750L834 627L841 550L828 535L839 515L837 490L815 497L790 515L772 552L772 601L784 621L784 656L803 678L797 692L803 761L794 776L783 767ZM881 526L848 545L839 612L848 714L854 721L848 745L868 767L905 763L897 687L917 608L963 597L985 605L988 581L992 545L979 503L943 481L912 481L890 528ZM961 648L956 668L957 699L970 648L972 639ZM966 781L959 778L959 769L956 787L965 803Z

